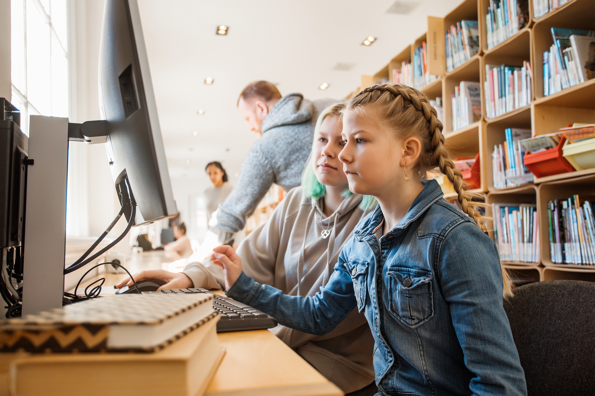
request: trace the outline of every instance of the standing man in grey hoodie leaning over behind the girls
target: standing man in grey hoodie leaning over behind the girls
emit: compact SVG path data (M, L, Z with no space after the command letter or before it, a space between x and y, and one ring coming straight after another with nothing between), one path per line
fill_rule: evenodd
M285 191L300 185L303 166L312 147L318 113L334 99L308 100L302 94L281 97L274 84L254 81L237 101L242 118L262 138L246 154L231 194L219 205L217 229L220 243L231 242L242 230L273 183Z

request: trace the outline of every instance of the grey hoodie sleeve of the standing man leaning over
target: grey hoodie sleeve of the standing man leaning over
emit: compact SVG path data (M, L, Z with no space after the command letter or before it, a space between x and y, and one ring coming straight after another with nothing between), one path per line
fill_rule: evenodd
M274 182L275 173L271 164L258 148L251 148L242 163L240 176L231 194L219 205L217 227L223 233L242 230L246 224L246 217L254 212ZM220 239L220 242L227 241Z

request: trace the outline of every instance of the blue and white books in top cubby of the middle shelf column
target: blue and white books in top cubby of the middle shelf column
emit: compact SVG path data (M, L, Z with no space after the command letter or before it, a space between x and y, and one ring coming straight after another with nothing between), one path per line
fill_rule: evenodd
M528 0L490 0L486 14L488 49L529 23Z

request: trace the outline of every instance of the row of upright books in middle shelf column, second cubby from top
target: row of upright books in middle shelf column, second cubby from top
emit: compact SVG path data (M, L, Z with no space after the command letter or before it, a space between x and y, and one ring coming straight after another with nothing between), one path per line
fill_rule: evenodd
M531 103L531 64L522 66L486 65L484 96L486 116L494 118Z

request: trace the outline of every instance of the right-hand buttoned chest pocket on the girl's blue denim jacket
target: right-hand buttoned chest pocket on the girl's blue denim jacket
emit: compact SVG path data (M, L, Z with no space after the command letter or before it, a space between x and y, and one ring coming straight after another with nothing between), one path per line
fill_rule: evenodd
M410 328L418 327L434 316L432 273L406 267L389 267L386 284L389 312Z

